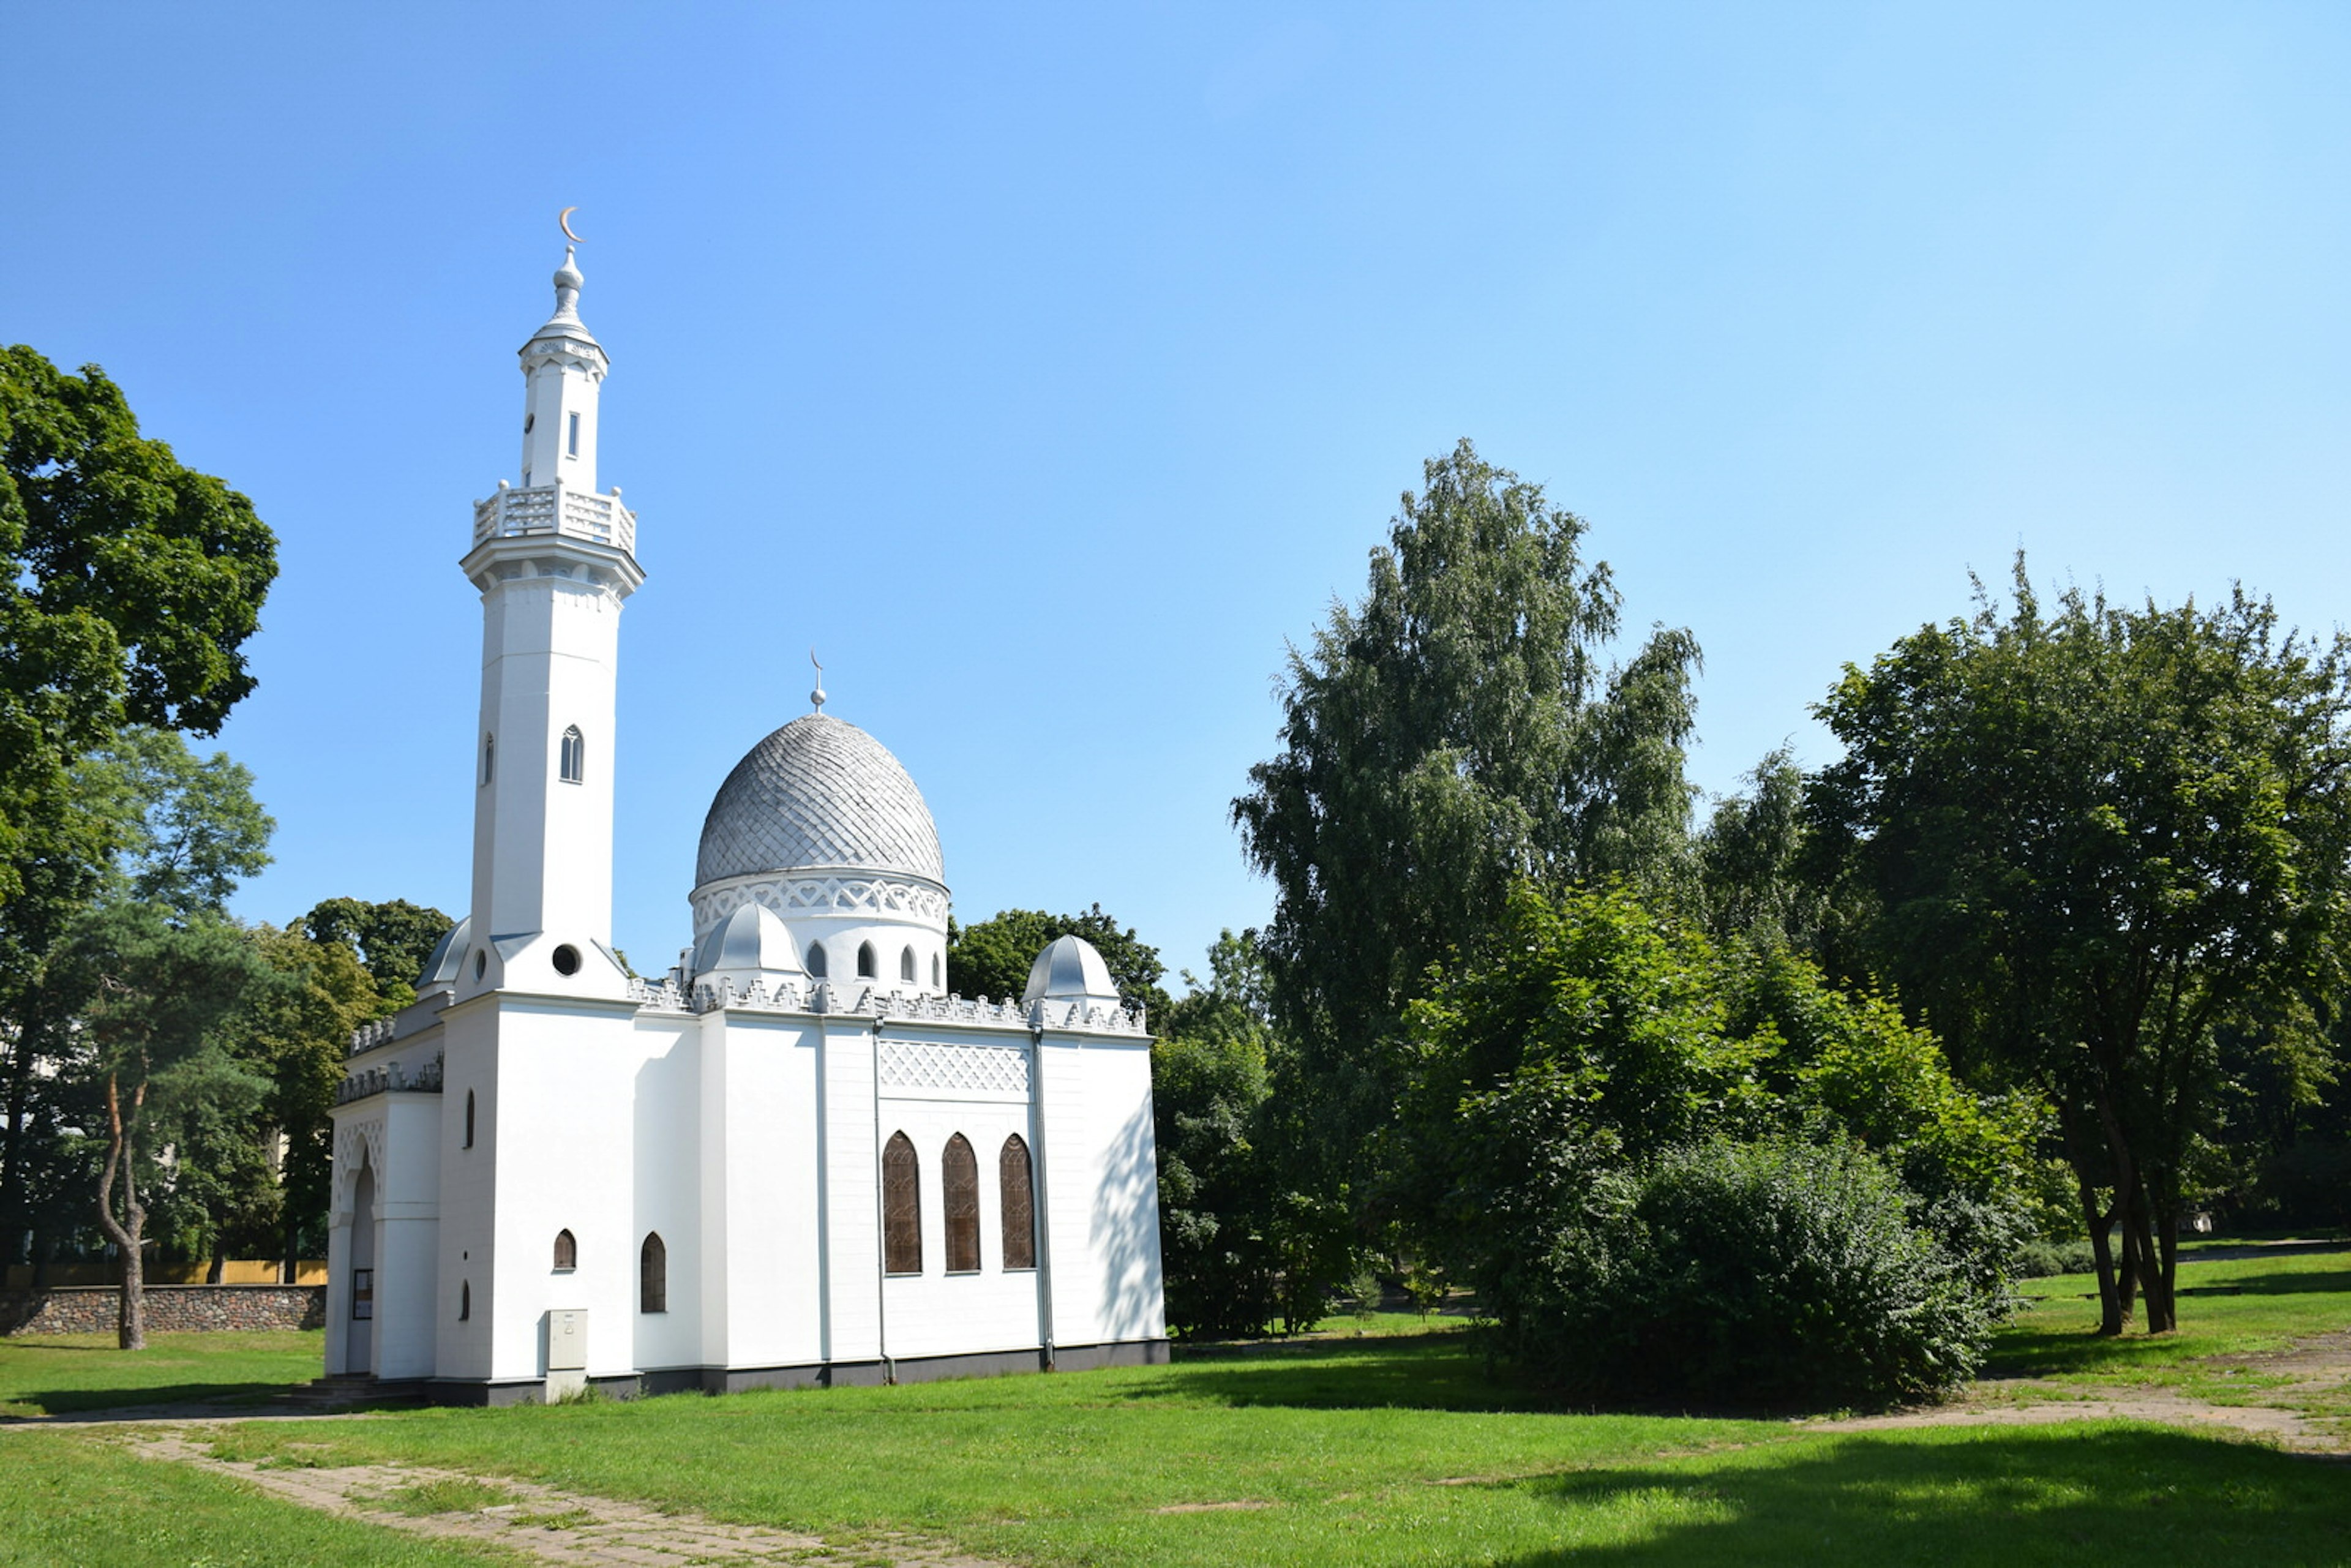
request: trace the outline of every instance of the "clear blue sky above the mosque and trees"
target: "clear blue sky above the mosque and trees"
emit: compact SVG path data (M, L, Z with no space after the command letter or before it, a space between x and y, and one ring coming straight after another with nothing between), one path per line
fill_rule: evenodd
M830 710L966 919L1262 922L1272 677L1467 435L1707 651L1695 778L2029 550L2344 618L2337 7L33 7L0 339L99 362L284 571L240 896L465 900L470 501L578 205L614 355L618 940Z

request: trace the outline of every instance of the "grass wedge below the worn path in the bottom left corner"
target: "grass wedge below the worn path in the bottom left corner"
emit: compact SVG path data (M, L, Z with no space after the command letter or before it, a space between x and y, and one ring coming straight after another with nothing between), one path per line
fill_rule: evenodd
M480 1568L515 1559L317 1514L188 1465L66 1432L0 1436L0 1563L82 1568Z

